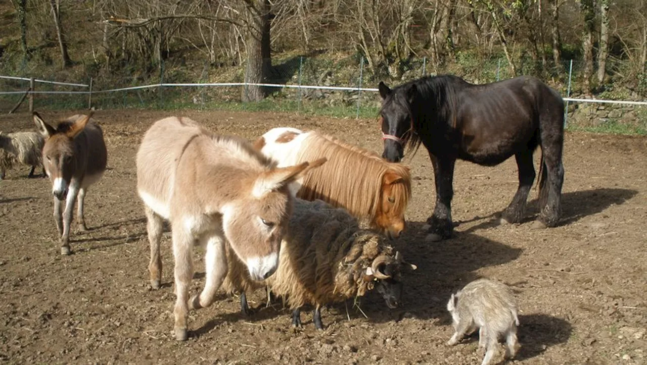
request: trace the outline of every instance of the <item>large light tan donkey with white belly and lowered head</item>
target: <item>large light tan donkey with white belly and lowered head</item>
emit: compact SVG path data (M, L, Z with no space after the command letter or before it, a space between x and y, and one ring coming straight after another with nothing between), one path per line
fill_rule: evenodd
M144 202L151 249L151 286L159 288L162 221L171 224L175 258L175 338L186 340L189 309L209 306L227 273L226 243L263 280L278 266L281 239L292 214L287 185L321 165L276 168L245 140L217 136L188 118L159 120L137 152L137 191ZM206 282L188 297L193 245L205 248Z

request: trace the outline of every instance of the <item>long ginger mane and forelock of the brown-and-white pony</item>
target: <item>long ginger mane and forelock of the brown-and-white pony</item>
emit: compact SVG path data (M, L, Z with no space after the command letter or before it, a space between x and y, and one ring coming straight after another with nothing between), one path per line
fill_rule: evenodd
M403 183L393 186L395 211L404 211L411 197L411 174L400 163L383 160L372 151L349 145L332 136L310 132L303 140L297 160L314 161L326 157L317 169L303 178L299 198L320 199L336 207L344 207L356 217L369 218L375 225L384 174L392 171L402 176Z

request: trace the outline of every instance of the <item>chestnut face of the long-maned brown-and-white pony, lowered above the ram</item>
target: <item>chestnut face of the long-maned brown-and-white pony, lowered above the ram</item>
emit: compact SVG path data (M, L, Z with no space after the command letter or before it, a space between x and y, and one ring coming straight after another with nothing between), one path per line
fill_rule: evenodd
M398 238L406 228L404 211L411 196L408 167L395 165L382 176L382 187L375 212L375 225L389 238Z

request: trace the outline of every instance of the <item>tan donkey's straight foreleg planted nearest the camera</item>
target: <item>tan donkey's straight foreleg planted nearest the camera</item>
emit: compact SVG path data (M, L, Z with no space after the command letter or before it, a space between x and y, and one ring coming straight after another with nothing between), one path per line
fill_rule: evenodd
M173 258L175 258L175 339L188 339L189 288L193 278L193 239L182 224L173 224Z

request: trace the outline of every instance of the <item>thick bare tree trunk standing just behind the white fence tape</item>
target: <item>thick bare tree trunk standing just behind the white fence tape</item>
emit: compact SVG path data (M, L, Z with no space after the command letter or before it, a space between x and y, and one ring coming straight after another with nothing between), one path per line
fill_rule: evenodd
M270 58L270 1L246 0L248 14L247 68L245 83L265 83L269 76L272 59ZM243 101L265 99L265 87L246 85L243 88Z

